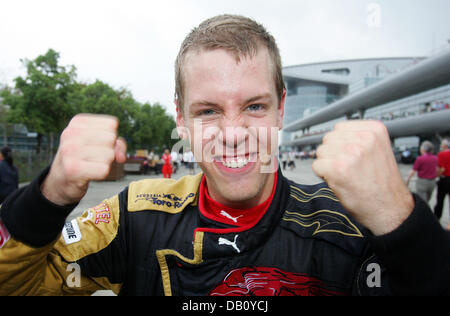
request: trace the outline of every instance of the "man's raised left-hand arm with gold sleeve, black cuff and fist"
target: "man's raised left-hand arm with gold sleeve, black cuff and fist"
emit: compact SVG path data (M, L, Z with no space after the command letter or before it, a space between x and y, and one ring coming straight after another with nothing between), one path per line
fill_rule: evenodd
M88 264L85 257L103 249L107 249L103 253L121 255L117 252L122 247L115 240L120 213L117 197L103 203L113 224L94 224L93 210L65 223L89 182L105 178L114 160L125 160L126 146L117 139L117 127L117 119L109 116L74 117L61 136L50 169L3 203L0 295L90 294L97 289L118 289L120 285L108 278L82 275L78 265L79 260ZM101 260L101 256L96 258Z

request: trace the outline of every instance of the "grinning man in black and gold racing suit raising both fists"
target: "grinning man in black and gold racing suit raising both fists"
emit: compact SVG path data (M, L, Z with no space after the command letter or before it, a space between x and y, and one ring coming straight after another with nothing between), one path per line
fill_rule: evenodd
M131 183L64 225L125 152L115 119L76 116L50 169L2 207L0 293L447 293L448 234L403 183L384 125L336 125L313 164L331 189L296 184L276 169L285 97L261 25L200 24L177 57L176 103L203 174Z

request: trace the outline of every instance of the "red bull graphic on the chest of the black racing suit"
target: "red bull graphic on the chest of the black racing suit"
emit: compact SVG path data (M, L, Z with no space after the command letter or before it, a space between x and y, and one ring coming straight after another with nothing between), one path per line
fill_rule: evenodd
M232 270L209 295L211 296L316 296L344 295L329 290L313 277L270 267L246 267Z

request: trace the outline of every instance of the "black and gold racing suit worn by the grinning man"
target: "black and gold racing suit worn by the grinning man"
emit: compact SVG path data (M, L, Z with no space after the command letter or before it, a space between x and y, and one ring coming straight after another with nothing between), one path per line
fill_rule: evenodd
M400 227L373 236L325 183L299 185L278 170L266 213L242 229L202 215L199 174L133 182L65 223L76 205L43 197L47 172L2 205L1 295L445 294L450 287L449 235L416 196Z

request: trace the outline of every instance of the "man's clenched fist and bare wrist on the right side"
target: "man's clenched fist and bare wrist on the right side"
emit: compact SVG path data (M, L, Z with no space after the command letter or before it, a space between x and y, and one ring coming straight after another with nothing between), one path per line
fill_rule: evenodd
M313 170L375 235L396 229L414 208L381 122L336 124L317 149Z

